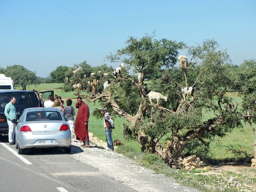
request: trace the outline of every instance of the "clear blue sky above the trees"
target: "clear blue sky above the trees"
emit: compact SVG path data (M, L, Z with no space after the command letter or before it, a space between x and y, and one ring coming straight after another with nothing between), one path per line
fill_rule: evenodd
M40 77L85 60L99 66L129 36L154 30L189 46L214 38L240 65L256 59L255 8L255 0L0 0L0 66Z

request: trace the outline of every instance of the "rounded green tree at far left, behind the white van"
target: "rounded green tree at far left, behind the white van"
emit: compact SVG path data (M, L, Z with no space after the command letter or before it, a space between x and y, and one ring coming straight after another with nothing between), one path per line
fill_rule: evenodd
M27 85L39 85L41 78L36 76L36 72L32 72L21 65L7 66L5 76L11 77L13 84L21 85L23 90L26 90Z

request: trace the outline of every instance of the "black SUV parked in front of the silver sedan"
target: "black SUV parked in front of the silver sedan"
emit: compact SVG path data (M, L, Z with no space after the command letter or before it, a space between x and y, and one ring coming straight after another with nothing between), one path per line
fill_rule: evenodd
M50 92L49 95L53 95L53 91L44 91L42 93L46 92ZM0 135L8 134L9 131L4 109L5 105L10 102L12 96L16 98L14 106L16 108L17 119L20 118L25 108L42 107L37 91L0 90Z

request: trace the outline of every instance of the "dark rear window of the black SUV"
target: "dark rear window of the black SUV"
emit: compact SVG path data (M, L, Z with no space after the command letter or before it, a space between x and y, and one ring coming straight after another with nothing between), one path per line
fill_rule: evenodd
M16 108L37 107L38 101L36 101L36 97L33 92L11 92L0 94L0 105L2 108L10 102L11 96L16 98L16 102L14 104Z

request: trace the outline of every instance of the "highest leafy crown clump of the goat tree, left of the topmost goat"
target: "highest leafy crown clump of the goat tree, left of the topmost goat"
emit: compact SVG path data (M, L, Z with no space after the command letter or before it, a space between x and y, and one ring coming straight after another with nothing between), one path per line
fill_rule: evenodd
M106 58L111 62L124 62L132 67L133 72L141 71L145 78L159 77L159 69L175 65L178 50L183 49L183 42L177 43L167 39L156 40L153 35L146 34L141 39L130 36L125 44L127 46L118 50L116 54L110 53Z

